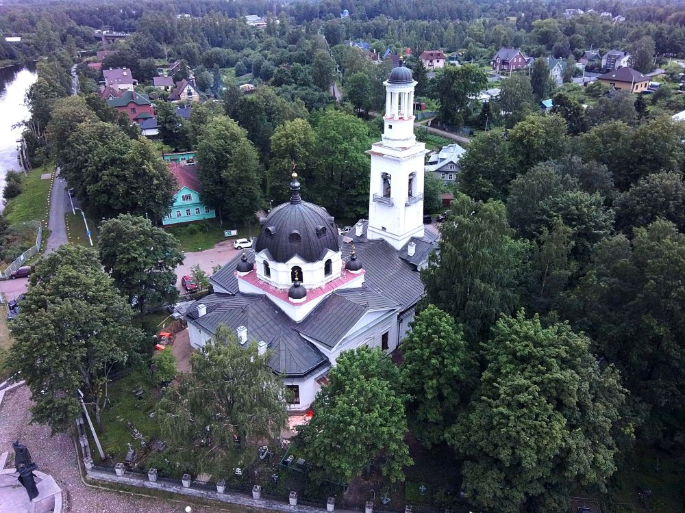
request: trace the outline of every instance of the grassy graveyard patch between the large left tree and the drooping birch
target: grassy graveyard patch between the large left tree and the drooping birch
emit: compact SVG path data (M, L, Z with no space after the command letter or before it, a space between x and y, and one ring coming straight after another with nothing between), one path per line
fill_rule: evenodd
M137 399L132 393L142 386L145 391L142 399ZM140 453L140 442L134 440L132 430L126 427L128 419L149 442L157 438L160 428L150 413L157 406L160 393L138 372L132 372L125 378L110 384L109 395L112 400L110 408L101 415L103 428L98 432L105 455L111 456L115 462L123 462L128 451L127 443L131 443Z

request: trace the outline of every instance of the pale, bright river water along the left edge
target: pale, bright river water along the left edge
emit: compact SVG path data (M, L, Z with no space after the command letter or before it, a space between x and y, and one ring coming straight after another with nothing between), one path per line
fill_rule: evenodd
M4 207L1 196L5 188L5 174L8 170L19 169L16 140L22 128L14 125L29 117L24 97L37 78L34 64L0 69L0 211Z

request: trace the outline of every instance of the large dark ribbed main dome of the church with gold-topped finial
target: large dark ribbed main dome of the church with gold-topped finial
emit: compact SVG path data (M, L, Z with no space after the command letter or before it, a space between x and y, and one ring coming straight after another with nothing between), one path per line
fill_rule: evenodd
M285 263L297 254L306 262L321 261L328 250L340 251L334 218L313 203L302 201L297 173L292 173L290 201L275 207L265 220L255 252L269 252L269 259Z

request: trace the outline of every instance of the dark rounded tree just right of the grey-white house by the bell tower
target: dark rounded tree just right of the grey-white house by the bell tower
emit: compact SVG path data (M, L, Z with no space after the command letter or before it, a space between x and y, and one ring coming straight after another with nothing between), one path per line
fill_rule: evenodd
M475 137L459 160L459 190L471 198L504 200L516 176L511 143L499 131Z

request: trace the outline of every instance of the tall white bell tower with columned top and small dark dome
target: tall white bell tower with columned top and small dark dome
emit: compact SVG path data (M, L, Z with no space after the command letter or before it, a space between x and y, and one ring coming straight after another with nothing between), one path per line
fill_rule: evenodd
M383 137L371 155L369 226L366 237L385 239L399 250L423 237L423 157L425 144L414 137L412 70L399 66L383 85L386 111Z

